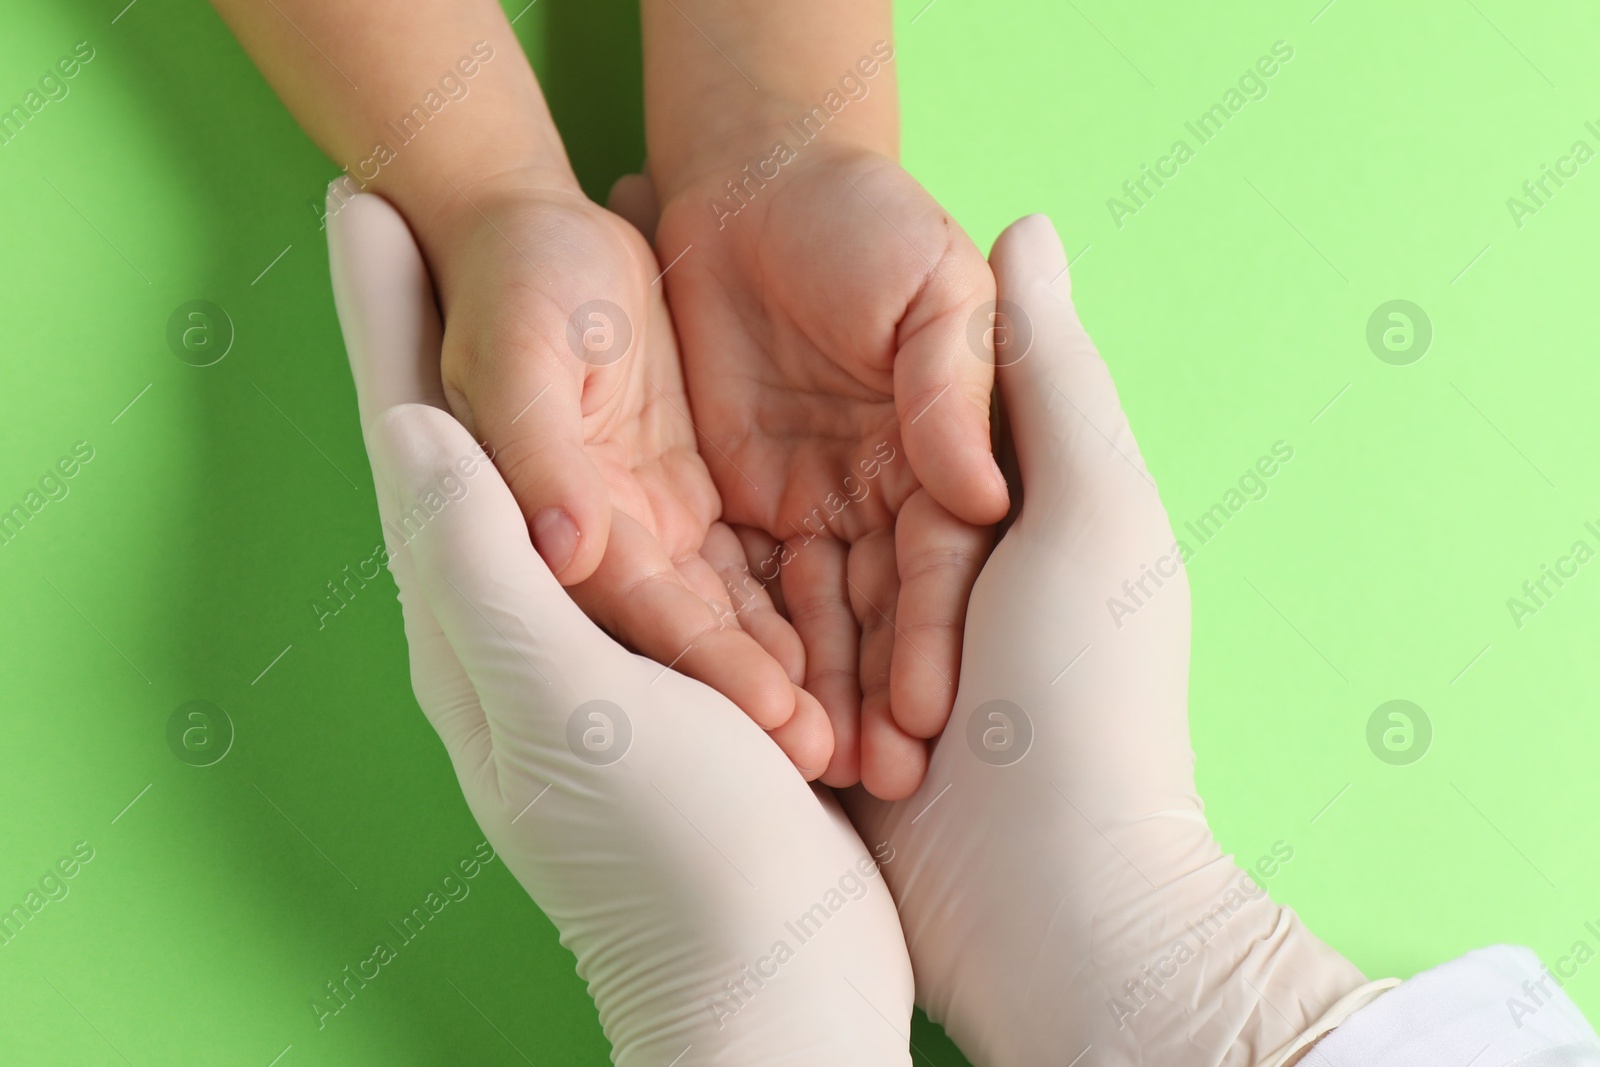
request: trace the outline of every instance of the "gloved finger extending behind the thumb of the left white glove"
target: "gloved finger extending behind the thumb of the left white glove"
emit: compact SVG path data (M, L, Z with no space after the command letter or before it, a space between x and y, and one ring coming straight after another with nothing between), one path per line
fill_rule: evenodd
M434 283L400 213L381 197L346 198L330 186L328 261L363 435L371 419L394 405L443 406ZM392 472L382 453L371 448L371 437L368 443L384 557L400 590L411 688L458 773L466 774L488 761L483 709L418 589L408 517L390 491Z

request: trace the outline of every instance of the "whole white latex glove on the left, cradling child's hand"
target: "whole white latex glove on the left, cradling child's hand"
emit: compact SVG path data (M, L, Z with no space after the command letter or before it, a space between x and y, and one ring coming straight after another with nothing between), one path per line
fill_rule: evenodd
M328 240L418 702L576 953L614 1062L909 1064L906 945L843 813L550 574L443 411L432 285L394 208L330 200Z

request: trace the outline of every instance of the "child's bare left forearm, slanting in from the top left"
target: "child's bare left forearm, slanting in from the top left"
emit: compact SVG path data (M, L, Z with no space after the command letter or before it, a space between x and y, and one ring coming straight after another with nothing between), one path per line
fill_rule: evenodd
M496 179L576 189L494 0L213 0L307 134L424 246ZM432 254L437 251L427 248Z

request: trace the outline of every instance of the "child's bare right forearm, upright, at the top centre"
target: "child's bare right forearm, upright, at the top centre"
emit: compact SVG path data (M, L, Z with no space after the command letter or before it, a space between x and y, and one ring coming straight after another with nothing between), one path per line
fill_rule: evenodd
M827 112L830 141L898 157L886 0L642 0L640 10L645 139L662 200L707 171L738 171L813 107Z

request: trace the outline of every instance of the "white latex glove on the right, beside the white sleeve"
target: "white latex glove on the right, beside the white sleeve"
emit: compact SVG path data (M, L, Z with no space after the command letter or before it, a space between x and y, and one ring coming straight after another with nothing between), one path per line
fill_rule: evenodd
M1365 979L1206 827L1189 585L1050 221L990 262L1021 514L973 590L926 781L846 806L894 848L918 1003L979 1067L1267 1062ZM1147 595L1118 627L1125 581Z

